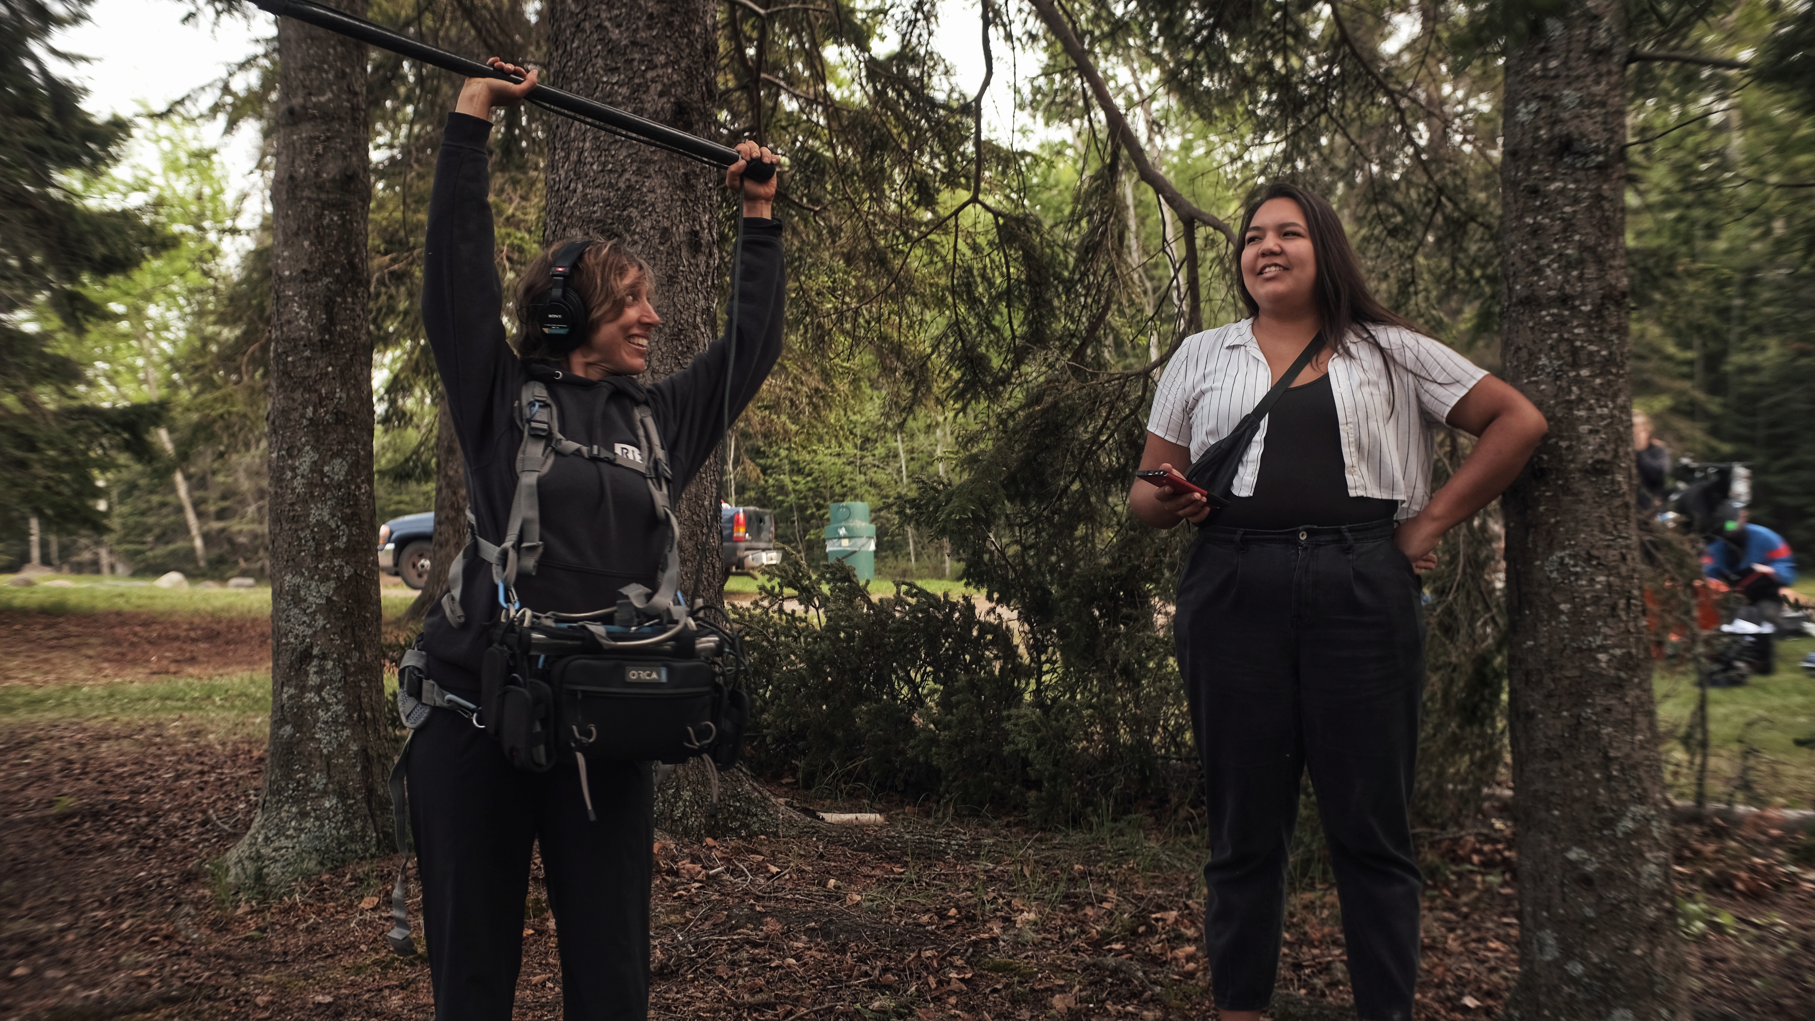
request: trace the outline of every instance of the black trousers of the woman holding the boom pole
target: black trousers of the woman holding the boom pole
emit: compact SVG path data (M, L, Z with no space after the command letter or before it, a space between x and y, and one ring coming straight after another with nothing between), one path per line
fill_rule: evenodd
M457 693L472 702L479 693ZM579 771L512 767L466 718L436 709L410 738L410 829L423 881L423 934L436 1021L508 1021L523 965L530 851L539 843L570 1021L650 1010L650 769L588 760Z

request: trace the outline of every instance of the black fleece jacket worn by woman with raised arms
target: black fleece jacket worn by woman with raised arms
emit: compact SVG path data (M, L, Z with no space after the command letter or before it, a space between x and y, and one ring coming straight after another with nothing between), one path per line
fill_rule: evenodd
M652 386L628 375L584 379L548 363L523 363L505 343L485 151L490 132L486 120L448 114L423 250L423 325L466 457L466 501L479 535L490 542L505 539L523 441L515 404L530 375L546 383L561 433L583 446L626 444L641 452L635 406L650 404L673 468L670 495L679 501L724 433L726 374L735 419L780 357L780 223L744 219L735 363L728 337ZM619 589L632 582L655 588L666 533L641 472L557 455L541 477L539 495L544 546L535 573L517 575L523 606L577 613L615 606ZM479 656L490 644L486 631L497 620L492 566L479 557L466 560L461 608L465 627L454 627L441 604L430 609L423 627L428 673L445 687L477 689Z

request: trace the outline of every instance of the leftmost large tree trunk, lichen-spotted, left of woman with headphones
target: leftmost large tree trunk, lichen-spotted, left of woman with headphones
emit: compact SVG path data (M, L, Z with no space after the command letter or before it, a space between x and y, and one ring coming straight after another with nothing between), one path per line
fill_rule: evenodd
M343 0L352 15L363 0ZM367 334L365 47L278 22L270 310L270 744L227 880L392 849Z

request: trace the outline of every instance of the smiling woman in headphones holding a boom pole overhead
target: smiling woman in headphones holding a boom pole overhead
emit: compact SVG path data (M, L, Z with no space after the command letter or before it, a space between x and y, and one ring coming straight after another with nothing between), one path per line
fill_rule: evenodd
M525 74L495 58L492 65ZM423 704L434 709L421 709L405 749L439 1021L512 1016L532 847L541 847L559 923L564 1016L648 1016L650 763L603 749L577 769L574 762L519 769L497 740L501 729L510 733L508 713L479 709L481 678L506 588L515 617L610 608L635 586L657 584L668 535L655 491L664 479L653 473L664 464L662 448L672 470L666 490L679 495L782 346L782 230L770 219L775 181L742 180L751 160L775 160L746 141L744 160L724 178L744 203L735 343L721 337L682 372L644 386L637 375L662 325L650 270L621 243L574 238L525 268L512 352L501 321L486 138L492 107L523 102L534 85L534 71L521 83L466 80L441 143L423 252L423 323L466 461L477 539L470 549L479 549L463 557L450 598L425 624ZM552 408L526 410L521 395L543 390ZM563 442L532 490L539 491L535 544L521 546L534 566L512 588L497 580L485 548L510 546L515 569L519 548L505 537L506 520L514 530L530 515L519 450L526 432L550 428Z

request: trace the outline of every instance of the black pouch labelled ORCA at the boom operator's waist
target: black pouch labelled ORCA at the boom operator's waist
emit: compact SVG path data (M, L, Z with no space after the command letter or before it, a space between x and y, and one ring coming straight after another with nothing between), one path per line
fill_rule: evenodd
M686 762L719 740L724 687L706 660L566 656L552 673L561 693L561 758Z

